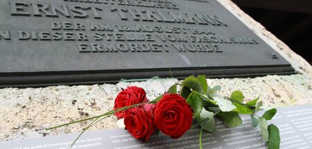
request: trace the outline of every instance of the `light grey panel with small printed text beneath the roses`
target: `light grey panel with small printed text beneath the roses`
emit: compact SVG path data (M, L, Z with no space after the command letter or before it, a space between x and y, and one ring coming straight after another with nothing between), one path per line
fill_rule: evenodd
M261 114L259 114L261 115ZM214 133L203 132L202 146L211 149L265 149L266 143L259 128L253 128L248 114L242 115L243 124L237 128L227 128L221 121L216 121ZM218 120L218 119L216 119ZM281 149L312 148L312 105L278 107L272 121L279 128ZM86 132L73 148L140 148L140 149L198 149L200 128L193 128L179 139L158 133L153 134L146 143L134 139L123 128ZM56 137L43 137L21 141L0 142L0 148L31 149L58 148L66 149L78 134L66 134Z

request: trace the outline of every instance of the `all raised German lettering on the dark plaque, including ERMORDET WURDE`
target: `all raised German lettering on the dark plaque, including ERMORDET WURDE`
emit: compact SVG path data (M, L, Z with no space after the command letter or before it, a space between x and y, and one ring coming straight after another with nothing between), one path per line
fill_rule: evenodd
M65 2L102 3L119 6L139 6L178 10L168 1L103 1L64 0ZM201 1L207 2L207 1ZM78 3L79 4L79 3ZM27 3L10 1L10 15L24 17L67 17L105 19L107 12L99 6L58 5L53 3ZM0 30L0 40L33 41L78 41L80 53L101 52L223 52L220 44L259 44L252 37L216 35L206 26L227 28L227 24L216 15L142 10L137 8L110 8L110 15L125 21L162 22L170 24L195 24L199 27L151 26L141 24L110 24L107 22L78 23L49 21L48 31ZM91 43L90 41L94 41ZM137 42L140 42L138 44ZM141 43L143 42L143 43Z

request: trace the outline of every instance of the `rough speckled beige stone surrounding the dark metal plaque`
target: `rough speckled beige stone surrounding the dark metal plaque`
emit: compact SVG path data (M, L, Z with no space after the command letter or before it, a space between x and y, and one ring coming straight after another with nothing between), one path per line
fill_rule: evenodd
M282 106L311 103L312 67L278 40L261 24L241 11L232 1L219 0L229 11L241 19L254 33L291 62L302 74L291 76L265 76L259 78L208 79L209 85L223 87L220 94L229 95L239 89L245 100L257 96L265 105ZM46 135L80 132L87 123L79 123L57 130L45 131L53 125L95 116L112 109L114 98L121 87L137 85L146 89L148 98L162 94L174 79L147 80L145 82L119 82L116 85L58 86L45 88L0 89L0 141L44 137ZM114 117L105 119L90 130L116 128Z

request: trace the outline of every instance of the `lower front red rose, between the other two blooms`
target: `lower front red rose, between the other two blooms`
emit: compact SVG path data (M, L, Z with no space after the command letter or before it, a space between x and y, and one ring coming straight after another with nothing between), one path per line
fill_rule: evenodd
M125 129L136 139L148 141L150 136L155 132L155 124L152 116L139 107L128 109L124 123Z

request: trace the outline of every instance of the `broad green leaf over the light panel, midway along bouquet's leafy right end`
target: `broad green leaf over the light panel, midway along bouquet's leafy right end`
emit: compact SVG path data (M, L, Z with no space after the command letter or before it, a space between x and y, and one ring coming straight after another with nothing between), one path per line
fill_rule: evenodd
M242 120L238 112L221 112L217 116L223 121L223 123L229 128L235 128L241 125Z

